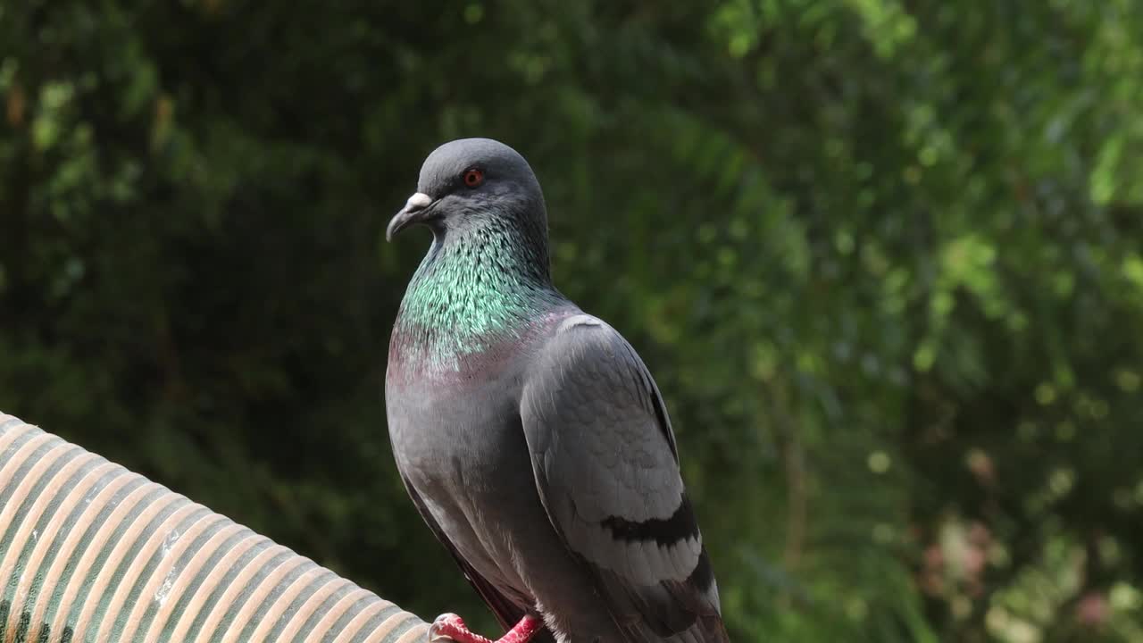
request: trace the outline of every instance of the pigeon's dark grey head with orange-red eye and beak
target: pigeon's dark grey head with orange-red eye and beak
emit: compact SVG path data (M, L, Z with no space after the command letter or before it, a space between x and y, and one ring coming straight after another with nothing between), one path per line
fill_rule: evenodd
M490 138L461 138L437 148L421 166L417 191L385 229L385 238L414 224L438 236L483 224L546 231L544 196L528 161Z

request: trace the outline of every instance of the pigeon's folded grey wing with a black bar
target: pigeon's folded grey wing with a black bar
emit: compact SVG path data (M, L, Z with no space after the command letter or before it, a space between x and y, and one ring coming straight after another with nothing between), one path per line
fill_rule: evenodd
M521 399L541 500L630 641L727 641L650 373L614 328L566 319Z

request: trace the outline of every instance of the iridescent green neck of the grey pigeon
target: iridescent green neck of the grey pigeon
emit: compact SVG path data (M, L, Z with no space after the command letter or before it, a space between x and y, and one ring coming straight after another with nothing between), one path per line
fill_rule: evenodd
M406 360L456 371L463 357L520 338L537 313L562 301L543 239L491 223L448 232L413 276L393 341Z

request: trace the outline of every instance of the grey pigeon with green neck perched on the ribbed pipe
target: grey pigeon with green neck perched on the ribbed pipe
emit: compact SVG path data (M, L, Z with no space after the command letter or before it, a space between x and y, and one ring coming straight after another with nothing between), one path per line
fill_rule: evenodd
M433 238L390 340L390 439L499 643L727 642L663 397L552 285L528 162L489 138L441 145L385 237L414 225ZM429 636L490 643L451 613Z

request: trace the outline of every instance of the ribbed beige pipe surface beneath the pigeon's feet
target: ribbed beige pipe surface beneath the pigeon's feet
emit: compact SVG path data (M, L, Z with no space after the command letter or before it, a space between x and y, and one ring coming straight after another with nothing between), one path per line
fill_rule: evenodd
M0 413L0 643L410 643L425 624Z

